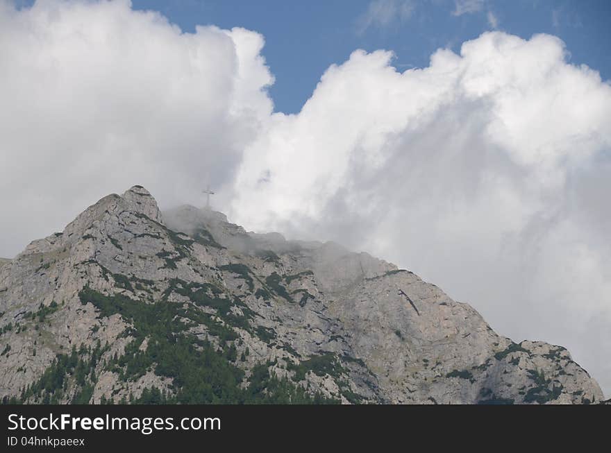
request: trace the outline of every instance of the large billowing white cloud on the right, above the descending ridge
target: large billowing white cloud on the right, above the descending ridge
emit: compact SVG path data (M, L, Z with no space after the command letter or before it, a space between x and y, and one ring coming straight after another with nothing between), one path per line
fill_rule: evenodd
M611 87L565 56L499 32L403 73L355 51L246 149L231 218L390 259L609 392Z

